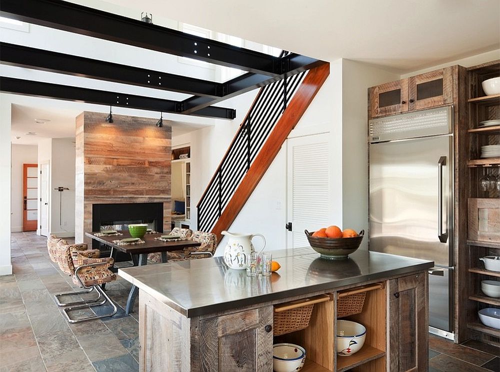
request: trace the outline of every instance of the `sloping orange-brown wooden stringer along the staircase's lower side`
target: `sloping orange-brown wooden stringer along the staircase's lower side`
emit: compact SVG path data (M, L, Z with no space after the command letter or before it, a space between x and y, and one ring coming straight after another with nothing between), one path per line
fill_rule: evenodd
M260 148L250 169L248 169L244 175L221 216L215 223L211 232L217 236L218 242L222 240L221 232L227 230L231 226L260 179L271 165L291 130L297 125L298 121L307 110L307 107L312 102L329 73L330 64L327 62L308 71L300 87L297 89L295 95L274 126L274 129Z

